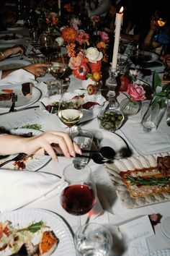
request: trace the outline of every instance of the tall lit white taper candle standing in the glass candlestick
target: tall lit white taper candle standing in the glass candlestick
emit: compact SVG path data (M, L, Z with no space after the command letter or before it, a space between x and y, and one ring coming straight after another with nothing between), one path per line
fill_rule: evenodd
M112 71L115 72L117 69L117 57L119 51L119 43L120 43L120 29L122 25L122 11L123 7L120 8L120 12L116 14L115 20L115 42L113 47L113 56L112 56Z

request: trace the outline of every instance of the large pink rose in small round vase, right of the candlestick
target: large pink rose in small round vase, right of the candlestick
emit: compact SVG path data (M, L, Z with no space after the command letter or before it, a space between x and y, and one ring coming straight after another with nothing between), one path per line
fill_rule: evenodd
M134 101L144 101L146 99L146 91L141 85L134 83L133 85L128 85L128 94Z

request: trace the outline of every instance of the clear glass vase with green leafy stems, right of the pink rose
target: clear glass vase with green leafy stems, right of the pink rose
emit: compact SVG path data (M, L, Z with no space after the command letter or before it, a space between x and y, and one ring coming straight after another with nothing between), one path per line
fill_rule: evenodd
M158 128L161 119L163 118L166 111L166 107L161 108L160 104L156 104L153 108L153 105L150 103L146 110L146 113L143 115L141 125L144 132L154 132Z

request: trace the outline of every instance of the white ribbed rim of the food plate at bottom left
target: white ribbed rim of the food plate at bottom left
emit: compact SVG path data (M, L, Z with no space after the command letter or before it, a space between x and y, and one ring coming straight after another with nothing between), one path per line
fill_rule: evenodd
M63 216L61 216L58 213L55 213L52 210L47 210L47 209L44 209L44 208L20 208L20 209L17 209L17 210L12 210L12 211L6 212L6 213L0 213L0 221L1 221L1 216L10 216L10 214L12 214L12 216L15 216L15 221L17 222L16 215L18 213L20 213L20 214L24 214L24 213L29 214L29 213L31 213L32 214L32 213L36 213L36 212L37 213L43 213L43 214L45 214L45 216L53 216L53 218L56 218L56 224L55 224L56 228L55 229L58 229L57 228L57 220L62 223L62 225L64 226L64 229L66 231L65 232L66 237L67 237L66 239L68 240L68 238L71 238L70 242L72 244L72 246L71 246L72 252L70 250L69 250L69 252L74 253L74 255L76 255L76 249L74 247L74 242L73 242L73 230L71 229L71 226L66 221L66 219L63 218ZM9 217L9 221L10 221L10 217ZM24 221L25 221L25 219L24 219ZM50 228L52 230L54 229L51 226L50 226ZM63 233L62 233L62 236L63 236ZM55 252L53 252L52 255L53 256L58 255L57 249L55 250Z

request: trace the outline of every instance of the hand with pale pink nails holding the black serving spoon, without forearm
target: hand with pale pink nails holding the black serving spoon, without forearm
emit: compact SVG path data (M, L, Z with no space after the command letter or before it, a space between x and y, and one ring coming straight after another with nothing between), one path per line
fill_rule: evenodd
M52 143L59 146L66 158L75 157L76 153L81 154L79 146L72 142L68 133L56 131L48 131L35 137L23 138L22 152L27 154L44 154L46 151L56 161L58 158L51 146Z

